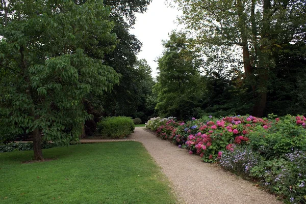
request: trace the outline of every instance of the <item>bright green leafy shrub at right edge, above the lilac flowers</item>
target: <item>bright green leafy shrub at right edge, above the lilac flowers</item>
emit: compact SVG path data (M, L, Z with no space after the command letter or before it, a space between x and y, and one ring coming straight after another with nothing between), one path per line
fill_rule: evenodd
M253 150L260 152L265 158L277 158L292 150L306 150L306 131L303 126L296 124L296 119L286 115L269 129L257 127L249 133Z

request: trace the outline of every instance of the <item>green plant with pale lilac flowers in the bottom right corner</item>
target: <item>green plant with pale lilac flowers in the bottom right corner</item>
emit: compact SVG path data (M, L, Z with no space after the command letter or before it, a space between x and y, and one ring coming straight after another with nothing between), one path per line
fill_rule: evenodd
M251 169L251 176L260 178L261 184L277 195L284 196L285 203L306 203L306 153L295 151L285 158L259 162Z

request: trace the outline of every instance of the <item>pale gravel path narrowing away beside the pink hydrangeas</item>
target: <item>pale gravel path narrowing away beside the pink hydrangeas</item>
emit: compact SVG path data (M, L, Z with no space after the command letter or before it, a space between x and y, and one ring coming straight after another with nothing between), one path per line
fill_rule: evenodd
M144 147L173 184L179 199L188 204L281 204L251 182L238 178L220 167L204 163L197 155L164 141L137 127L131 138Z

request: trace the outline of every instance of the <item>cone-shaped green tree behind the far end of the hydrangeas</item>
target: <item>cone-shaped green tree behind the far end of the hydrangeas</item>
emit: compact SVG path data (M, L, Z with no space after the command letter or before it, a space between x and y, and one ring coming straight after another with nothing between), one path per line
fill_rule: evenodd
M158 60L159 76L155 91L157 106L162 116L190 118L200 106L205 85L199 74L199 59L190 49L190 41L184 33L171 33L164 42L165 51Z

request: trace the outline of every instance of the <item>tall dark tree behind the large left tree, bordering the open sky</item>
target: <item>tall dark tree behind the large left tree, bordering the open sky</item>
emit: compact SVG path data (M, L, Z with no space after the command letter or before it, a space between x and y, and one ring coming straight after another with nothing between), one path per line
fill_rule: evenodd
M105 1L112 7L111 19L115 22L113 32L117 34L118 44L115 50L106 54L104 61L121 75L120 83L114 86L112 93L102 98L104 115L134 116L143 102L139 86L139 73L135 69L136 55L142 43L129 33L135 23L135 13L143 13L151 1ZM126 20L129 22L126 22Z

